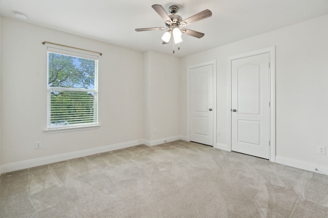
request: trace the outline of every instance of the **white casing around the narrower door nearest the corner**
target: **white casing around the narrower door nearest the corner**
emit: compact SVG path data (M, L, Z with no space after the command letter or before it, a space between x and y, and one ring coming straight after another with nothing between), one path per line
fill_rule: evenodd
M216 60L190 65L187 67L187 140L190 141L190 70L197 67L213 66L213 148L216 148Z

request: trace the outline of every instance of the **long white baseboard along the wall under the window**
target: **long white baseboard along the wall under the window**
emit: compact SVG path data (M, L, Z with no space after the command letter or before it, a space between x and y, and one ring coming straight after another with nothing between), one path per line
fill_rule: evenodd
M86 149L86 150L77 151L77 152L70 152L70 153L65 153L65 154L59 154L59 155L53 155L53 156L48 156L48 157L35 158L35 159L30 159L30 160L18 161L18 162L14 162L14 163L8 163L8 164L4 164L4 165L0 166L0 175L3 173L18 171L20 169L26 169L26 168L30 168L30 167L41 166L41 165L45 165L45 164L70 160L70 159L79 158L79 157L85 157L85 156L94 155L94 154L98 154L98 153L114 151L117 149L124 149L124 148L129 148L132 146L138 146L139 144L142 144L142 143L143 143L142 140L128 141L128 142L111 144L110 146L104 146L104 147L99 147L99 148L94 148L94 149Z

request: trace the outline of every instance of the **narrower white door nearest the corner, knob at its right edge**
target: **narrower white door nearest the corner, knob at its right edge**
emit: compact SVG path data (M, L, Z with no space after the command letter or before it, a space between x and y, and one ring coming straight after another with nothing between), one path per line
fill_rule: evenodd
M190 69L190 140L213 146L213 65Z

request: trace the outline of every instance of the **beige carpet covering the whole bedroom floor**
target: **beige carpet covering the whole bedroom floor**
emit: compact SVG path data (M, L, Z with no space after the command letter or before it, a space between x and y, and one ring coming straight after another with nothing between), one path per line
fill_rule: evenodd
M328 176L193 142L3 174L0 217L328 217Z

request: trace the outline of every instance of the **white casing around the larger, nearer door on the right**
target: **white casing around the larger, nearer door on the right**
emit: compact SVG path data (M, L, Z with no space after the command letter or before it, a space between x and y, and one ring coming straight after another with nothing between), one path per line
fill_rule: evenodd
M231 120L231 108L232 108L232 90L231 90L231 70L232 70L232 61L247 58L251 56L261 55L269 53L269 86L270 86L270 146L269 146L269 160L271 162L276 162L276 56L275 56L275 46L267 47L265 49L256 50L248 53L243 53L239 55L230 56L227 58L227 93L228 93L228 107L227 107L227 114L228 114L228 151L232 151L232 120Z

